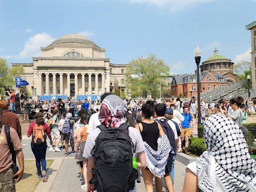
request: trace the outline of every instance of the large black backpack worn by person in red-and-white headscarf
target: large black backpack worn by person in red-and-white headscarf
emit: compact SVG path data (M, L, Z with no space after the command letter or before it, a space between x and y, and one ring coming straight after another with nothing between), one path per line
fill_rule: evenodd
M126 192L134 188L137 170L132 166L133 143L128 134L128 125L119 128L97 126L98 134L91 150L94 158L90 184L99 192Z

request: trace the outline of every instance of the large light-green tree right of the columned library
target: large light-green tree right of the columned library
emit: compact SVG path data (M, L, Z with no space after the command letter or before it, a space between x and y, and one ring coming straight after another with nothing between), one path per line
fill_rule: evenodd
M159 95L160 76L167 74L169 66L154 54L148 57L137 57L131 60L125 72L126 88L131 91L131 97L153 98Z

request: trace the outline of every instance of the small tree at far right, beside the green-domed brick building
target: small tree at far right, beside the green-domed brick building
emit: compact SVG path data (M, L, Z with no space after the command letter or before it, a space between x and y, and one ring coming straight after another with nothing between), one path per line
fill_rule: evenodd
M245 72L251 75L251 63L247 61L241 61L233 65L233 72L239 76L240 79L246 79Z

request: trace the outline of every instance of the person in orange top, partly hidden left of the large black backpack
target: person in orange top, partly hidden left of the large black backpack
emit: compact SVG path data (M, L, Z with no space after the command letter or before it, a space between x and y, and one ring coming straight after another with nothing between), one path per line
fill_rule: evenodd
M90 116L88 114L82 113L80 118L80 124L82 125L80 129L77 130L77 137L76 137L76 151L79 151L78 154L78 162L82 162L82 175L84 179L84 184L81 185L81 189L87 190L87 177L86 177L86 166L87 166L87 158L84 158L82 156L86 138L87 138L87 128L88 128L88 122L89 122Z

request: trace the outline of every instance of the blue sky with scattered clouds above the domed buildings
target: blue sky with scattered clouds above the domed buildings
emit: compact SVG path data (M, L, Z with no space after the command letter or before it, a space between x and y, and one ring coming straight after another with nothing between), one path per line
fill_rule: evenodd
M88 37L111 63L153 53L174 73L193 73L218 54L234 63L250 59L256 0L0 0L0 57L32 62L40 47L69 33Z

